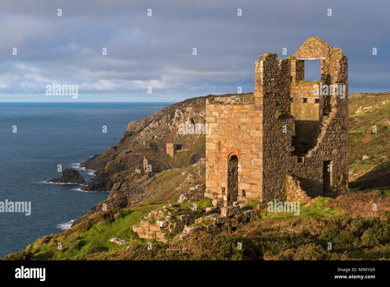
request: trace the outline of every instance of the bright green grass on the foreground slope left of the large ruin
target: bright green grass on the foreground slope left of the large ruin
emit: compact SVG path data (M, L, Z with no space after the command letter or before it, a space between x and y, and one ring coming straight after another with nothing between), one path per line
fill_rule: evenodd
M210 201L211 202L211 201ZM199 207L207 206L208 199L202 199L199 202L186 202L178 204L179 207L188 207L196 203ZM85 222L74 226L60 234L51 234L38 239L27 246L26 250L40 260L45 259L70 259L77 257L82 259L98 252L110 252L113 249L124 249L128 245L117 245L110 242L114 236L119 236L129 242L129 245L135 242L149 242L152 239L140 239L132 231L132 225L138 225L140 220L144 219L149 212L161 209L165 204L140 204L132 208L123 208L115 213L112 222L99 221L92 224L87 230L83 230ZM96 217L96 214L91 215ZM57 249L57 243L62 243L62 249ZM158 243L156 241L156 243ZM162 244L162 243L158 243Z

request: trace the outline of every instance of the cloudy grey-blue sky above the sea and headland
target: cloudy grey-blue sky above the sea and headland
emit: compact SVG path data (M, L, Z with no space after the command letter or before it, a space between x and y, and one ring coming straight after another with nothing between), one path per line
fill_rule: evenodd
M349 92L386 92L389 8L388 0L2 0L0 102L179 102L253 92L259 55L286 58L315 36L348 57ZM305 68L305 79L321 76L319 63ZM77 98L47 95L53 82L77 85Z

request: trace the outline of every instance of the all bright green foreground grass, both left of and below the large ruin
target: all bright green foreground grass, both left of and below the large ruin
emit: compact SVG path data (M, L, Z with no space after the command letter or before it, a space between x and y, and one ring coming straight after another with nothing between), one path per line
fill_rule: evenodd
M329 209L323 210L329 198L317 199L308 207L301 207L299 217L308 217L316 215L318 217L328 217L339 214L338 210ZM186 202L179 204L180 207L191 206L194 202ZM207 206L205 202L196 202L200 207ZM209 202L207 202L209 203ZM135 234L131 227L138 224L149 212L161 209L165 204L140 204L132 208L124 208L121 210L112 210L100 212L100 214L92 215L90 223L87 220L68 229L60 234L51 234L38 239L34 243L28 245L27 251L34 254L37 259L101 259L102 254L110 254L114 250L122 250L128 245L117 245L110 242L114 236L129 242L129 245L138 245L147 242L153 242L157 245L163 245L151 239L140 239ZM104 215L105 216L102 216ZM261 215L259 221L269 220L286 220L288 217L294 217L292 213L282 214L275 213L266 216L266 213ZM62 250L58 250L58 242L62 243ZM117 252L118 253L118 252ZM95 254L95 255L94 255ZM101 257L99 257L101 256Z

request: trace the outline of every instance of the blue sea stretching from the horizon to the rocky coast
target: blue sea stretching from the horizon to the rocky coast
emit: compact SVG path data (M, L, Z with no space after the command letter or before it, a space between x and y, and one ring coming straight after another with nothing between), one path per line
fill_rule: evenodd
M82 185L44 183L116 145L130 121L170 103L0 103L0 201L31 201L31 215L0 212L0 257L24 250L45 235L69 228L108 192L82 192ZM17 132L12 133L16 125ZM107 133L102 132L102 126Z

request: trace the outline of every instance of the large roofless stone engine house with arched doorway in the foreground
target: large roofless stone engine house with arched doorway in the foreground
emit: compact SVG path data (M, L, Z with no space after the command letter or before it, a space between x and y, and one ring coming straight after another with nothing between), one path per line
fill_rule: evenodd
M305 81L306 60L320 60L320 81ZM310 37L289 58L259 56L254 104L206 100L205 196L232 206L347 190L347 63L340 48ZM316 84L323 93L316 93Z

